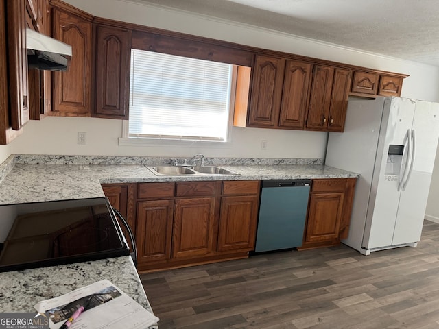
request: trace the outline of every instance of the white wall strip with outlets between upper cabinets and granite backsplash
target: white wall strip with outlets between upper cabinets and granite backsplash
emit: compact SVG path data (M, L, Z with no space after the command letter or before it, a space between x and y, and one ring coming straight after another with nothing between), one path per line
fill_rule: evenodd
M78 132L86 132L86 145L77 144ZM114 156L191 156L238 158L322 158L327 134L290 130L233 127L232 142L209 147L118 146L122 121L97 118L47 117L31 121L23 136L11 143L14 154L77 154ZM268 141L261 151L261 140Z

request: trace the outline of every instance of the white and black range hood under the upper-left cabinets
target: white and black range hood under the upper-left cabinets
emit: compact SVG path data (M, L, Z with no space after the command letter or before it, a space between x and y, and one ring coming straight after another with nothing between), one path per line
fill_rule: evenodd
M26 29L27 65L29 69L67 71L71 45Z

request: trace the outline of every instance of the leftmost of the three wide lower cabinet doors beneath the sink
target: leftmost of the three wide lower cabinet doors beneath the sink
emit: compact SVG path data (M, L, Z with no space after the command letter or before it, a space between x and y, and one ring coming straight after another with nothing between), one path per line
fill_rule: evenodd
M139 263L171 258L174 200L137 202L137 258Z

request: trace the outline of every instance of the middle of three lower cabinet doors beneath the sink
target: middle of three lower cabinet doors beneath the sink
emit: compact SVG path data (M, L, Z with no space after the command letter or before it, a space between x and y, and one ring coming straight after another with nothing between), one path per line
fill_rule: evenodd
M197 257L214 250L215 197L175 201L172 257Z

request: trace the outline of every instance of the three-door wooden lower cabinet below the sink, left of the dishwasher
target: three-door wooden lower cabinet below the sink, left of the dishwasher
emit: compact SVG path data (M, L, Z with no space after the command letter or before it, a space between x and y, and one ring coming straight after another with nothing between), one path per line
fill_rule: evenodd
M257 180L137 184L138 271L248 257L259 189Z

